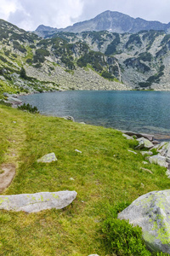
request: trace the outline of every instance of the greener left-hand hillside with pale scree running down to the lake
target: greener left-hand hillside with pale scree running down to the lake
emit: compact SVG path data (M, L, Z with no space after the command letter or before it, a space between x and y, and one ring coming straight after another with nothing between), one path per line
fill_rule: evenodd
M103 78L93 68L77 66L87 44L69 44L63 38L42 40L34 33L0 20L1 91L42 92L46 90L122 90L127 87ZM114 60L114 59L113 59ZM108 64L102 61L102 70ZM82 84L84 85L82 87Z

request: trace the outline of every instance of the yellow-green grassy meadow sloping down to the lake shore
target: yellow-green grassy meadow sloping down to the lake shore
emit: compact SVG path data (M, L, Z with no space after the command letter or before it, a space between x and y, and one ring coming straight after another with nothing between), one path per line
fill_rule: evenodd
M108 209L169 189L165 168L148 164L153 174L141 170L144 157L128 152L135 145L119 131L0 105L0 164L16 166L3 195L77 191L77 199L63 210L0 211L0 255L106 255L100 230ZM57 162L37 163L52 152Z

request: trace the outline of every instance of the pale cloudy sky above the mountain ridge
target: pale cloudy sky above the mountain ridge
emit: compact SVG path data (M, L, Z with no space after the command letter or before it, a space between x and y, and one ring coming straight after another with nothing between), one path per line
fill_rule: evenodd
M25 30L57 28L89 20L105 10L133 18L170 22L170 0L0 0L0 19Z

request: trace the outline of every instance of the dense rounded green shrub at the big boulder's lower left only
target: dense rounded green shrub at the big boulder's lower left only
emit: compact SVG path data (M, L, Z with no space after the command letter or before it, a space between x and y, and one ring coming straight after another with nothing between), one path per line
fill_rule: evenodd
M150 256L142 239L142 230L126 220L108 218L104 222L105 247L109 253L120 256Z

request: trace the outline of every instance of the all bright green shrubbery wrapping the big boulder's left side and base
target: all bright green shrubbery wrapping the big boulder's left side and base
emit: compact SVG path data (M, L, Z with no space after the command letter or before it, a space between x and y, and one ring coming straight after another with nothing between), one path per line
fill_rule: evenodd
M107 218L102 224L105 251L116 256L167 256L167 253L150 252L142 238L142 229L117 219L117 213L128 207L130 202L122 201L108 207Z

